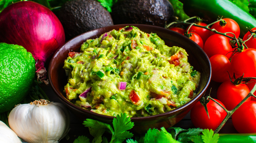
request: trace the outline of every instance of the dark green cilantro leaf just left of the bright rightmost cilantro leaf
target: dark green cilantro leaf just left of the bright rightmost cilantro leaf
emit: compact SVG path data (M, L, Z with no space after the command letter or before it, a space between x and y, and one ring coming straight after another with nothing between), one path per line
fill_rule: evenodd
M183 132L179 135L178 141L187 142L192 139L191 136L199 135L200 133L202 133L202 131L203 129L200 128L189 128L188 130L186 130L186 132Z

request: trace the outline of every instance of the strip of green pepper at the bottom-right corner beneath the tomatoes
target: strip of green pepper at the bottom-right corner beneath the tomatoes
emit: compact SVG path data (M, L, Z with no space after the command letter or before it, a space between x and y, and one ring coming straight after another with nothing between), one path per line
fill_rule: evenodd
M219 134L218 143L255 143L256 134Z

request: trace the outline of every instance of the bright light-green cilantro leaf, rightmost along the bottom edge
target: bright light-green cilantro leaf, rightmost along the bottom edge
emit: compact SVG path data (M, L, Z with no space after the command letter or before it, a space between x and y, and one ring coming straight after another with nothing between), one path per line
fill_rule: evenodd
M204 143L217 143L219 139L219 134L214 134L213 130L204 129L202 139Z

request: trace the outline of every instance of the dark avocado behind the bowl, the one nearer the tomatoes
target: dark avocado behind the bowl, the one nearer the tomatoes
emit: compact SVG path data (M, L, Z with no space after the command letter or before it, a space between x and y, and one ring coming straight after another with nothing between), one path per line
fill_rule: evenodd
M172 21L173 7L168 0L118 0L112 7L114 24L165 26Z

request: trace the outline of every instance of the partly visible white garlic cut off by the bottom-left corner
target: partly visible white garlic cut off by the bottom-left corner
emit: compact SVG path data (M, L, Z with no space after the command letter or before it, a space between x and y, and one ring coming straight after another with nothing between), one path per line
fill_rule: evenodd
M20 138L2 121L0 121L0 143L22 143Z

